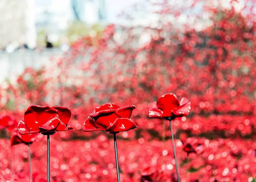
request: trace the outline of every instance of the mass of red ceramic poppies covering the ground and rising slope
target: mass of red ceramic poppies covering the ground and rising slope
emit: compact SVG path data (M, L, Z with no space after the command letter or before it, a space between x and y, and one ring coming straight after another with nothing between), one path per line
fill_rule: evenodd
M6 80L0 182L31 181L29 161L33 182L47 181L47 132L55 132L51 182L117 181L113 135L121 182L255 182L255 2L237 11L238 1L205 4L210 23L200 30L164 18L155 27L108 25L51 65ZM188 8L201 1L193 2ZM161 17L186 11L153 5Z

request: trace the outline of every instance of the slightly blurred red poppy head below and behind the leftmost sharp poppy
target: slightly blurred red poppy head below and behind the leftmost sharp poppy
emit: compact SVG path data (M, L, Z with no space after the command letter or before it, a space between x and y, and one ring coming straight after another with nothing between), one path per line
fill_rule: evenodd
M24 118L22 118L24 119ZM12 130L11 136L11 145L17 145L20 143L24 143L26 145L33 143L35 141L36 134L28 134L28 135L21 135L17 128Z

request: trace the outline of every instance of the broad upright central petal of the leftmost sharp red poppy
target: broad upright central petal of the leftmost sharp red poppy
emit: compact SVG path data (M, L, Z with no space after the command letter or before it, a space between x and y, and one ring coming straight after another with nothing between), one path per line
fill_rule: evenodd
M56 109L50 106L31 105L24 113L24 122L30 133L39 132L39 127L47 123L58 114Z

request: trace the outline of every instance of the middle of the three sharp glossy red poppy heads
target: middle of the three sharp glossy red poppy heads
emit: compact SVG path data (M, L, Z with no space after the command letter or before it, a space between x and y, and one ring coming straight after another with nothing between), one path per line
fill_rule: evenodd
M96 107L85 120L82 129L84 132L106 130L107 132L124 132L136 128L130 119L134 105L120 107L115 103L107 102Z

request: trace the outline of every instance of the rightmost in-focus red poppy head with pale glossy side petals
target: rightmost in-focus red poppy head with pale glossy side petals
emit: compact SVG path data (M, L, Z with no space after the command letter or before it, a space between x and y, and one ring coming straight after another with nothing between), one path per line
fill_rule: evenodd
M153 107L149 110L149 117L154 118L176 118L187 116L190 111L190 102L183 97L180 102L174 94L164 94L157 102L153 102Z

